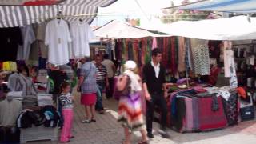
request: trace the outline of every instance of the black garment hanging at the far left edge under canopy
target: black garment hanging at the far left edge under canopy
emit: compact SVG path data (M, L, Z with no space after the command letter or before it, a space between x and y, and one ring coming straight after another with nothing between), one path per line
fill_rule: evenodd
M18 45L22 45L19 27L0 29L0 62L16 61Z

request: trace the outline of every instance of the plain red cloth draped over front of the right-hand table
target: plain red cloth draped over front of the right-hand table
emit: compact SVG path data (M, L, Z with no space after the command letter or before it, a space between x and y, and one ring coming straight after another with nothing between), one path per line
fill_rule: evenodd
M218 111L211 110L212 98L199 98L198 102L200 130L214 130L227 126L221 97L218 97Z

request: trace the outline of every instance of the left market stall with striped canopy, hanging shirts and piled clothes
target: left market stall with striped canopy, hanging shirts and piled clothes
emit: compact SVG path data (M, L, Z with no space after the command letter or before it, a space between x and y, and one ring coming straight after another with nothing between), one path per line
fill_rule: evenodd
M0 143L58 140L59 86L75 86L74 63L90 56L90 22L113 2L0 2Z

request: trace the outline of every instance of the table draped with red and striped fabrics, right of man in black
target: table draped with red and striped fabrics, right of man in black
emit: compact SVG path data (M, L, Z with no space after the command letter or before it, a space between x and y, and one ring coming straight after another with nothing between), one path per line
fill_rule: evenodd
M191 91L192 90L192 91ZM238 124L238 94L230 92L228 100L213 94L192 96L193 89L188 93L171 93L166 99L168 106L167 126L185 132L217 130ZM175 97L175 98L174 98ZM159 110L157 116L160 118Z

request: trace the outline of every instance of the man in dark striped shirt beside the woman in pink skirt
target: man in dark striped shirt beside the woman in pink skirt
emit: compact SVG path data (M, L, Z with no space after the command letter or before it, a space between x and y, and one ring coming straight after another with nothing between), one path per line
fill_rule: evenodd
M104 114L104 108L102 105L102 93L103 90L105 90L106 87L109 86L108 78L107 78L107 72L106 67L102 65L102 56L99 54L95 57L95 65L97 68L97 87L98 87L98 93L97 93L97 102L95 106L95 110L97 110L100 114Z

